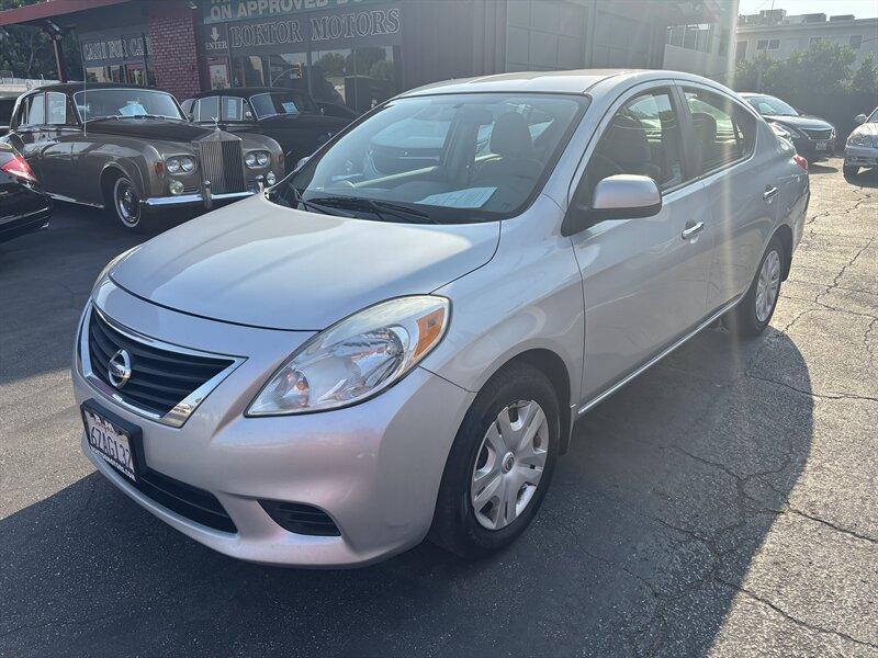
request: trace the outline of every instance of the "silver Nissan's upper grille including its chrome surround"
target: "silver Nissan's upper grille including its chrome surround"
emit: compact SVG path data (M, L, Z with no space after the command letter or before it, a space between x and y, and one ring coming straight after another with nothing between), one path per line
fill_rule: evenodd
M206 355L122 330L92 307L82 328L80 360L86 377L132 411L180 427L239 360ZM124 350L131 376L116 386L110 360Z

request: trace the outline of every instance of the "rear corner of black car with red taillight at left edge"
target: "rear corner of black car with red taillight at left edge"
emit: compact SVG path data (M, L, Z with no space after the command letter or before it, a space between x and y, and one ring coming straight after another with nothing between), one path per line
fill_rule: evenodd
M0 141L0 242L47 228L52 198L43 192L27 161Z

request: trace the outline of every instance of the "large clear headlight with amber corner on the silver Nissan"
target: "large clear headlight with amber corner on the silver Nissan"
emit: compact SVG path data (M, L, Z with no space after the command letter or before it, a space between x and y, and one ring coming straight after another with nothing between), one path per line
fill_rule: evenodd
M370 306L293 352L256 396L248 416L349 407L408 374L448 329L451 303L418 295Z

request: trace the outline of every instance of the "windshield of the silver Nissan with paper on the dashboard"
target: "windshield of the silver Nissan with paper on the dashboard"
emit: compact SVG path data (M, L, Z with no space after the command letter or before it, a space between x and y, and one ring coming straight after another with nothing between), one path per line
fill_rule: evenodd
M586 106L586 98L562 94L391 101L288 177L272 200L394 222L511 216L538 192Z

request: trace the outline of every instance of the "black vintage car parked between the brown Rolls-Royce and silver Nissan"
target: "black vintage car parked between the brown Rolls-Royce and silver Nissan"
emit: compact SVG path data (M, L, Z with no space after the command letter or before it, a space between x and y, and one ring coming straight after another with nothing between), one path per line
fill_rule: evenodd
M183 101L182 107L194 123L271 137L280 143L288 170L353 118L330 115L303 91L277 87L214 89Z

